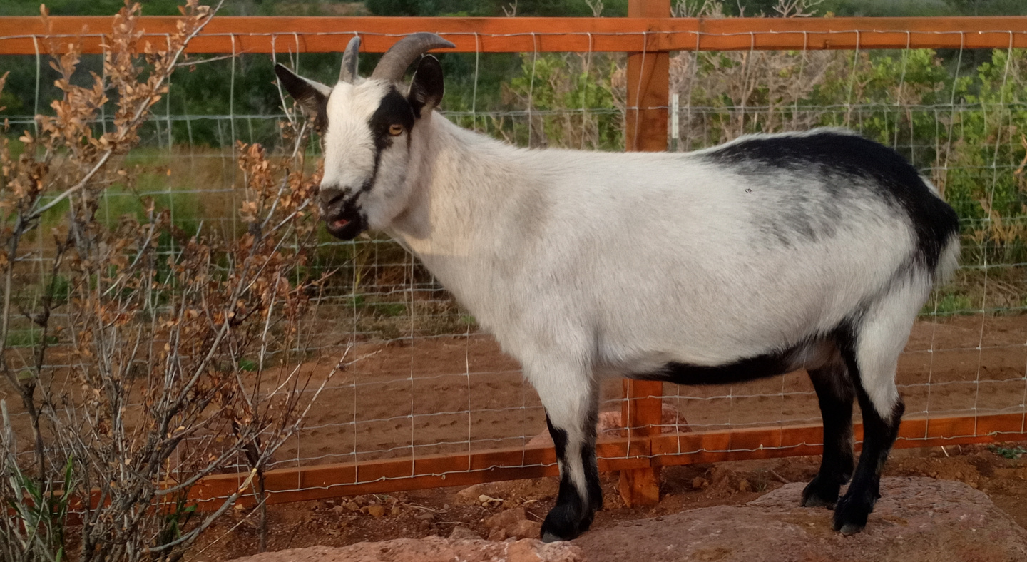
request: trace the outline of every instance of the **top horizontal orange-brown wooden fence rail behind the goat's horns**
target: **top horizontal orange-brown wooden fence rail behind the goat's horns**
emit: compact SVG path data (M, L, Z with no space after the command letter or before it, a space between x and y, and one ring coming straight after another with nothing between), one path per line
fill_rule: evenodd
M141 17L155 43L176 17ZM58 49L81 37L101 52L108 16L53 16ZM1003 17L278 17L217 16L190 45L195 53L335 52L359 34L368 52L397 36L432 31L459 52L1027 48L1027 16ZM48 48L39 17L0 18L0 54ZM33 41L33 37L37 41ZM445 52L443 50L442 52Z

